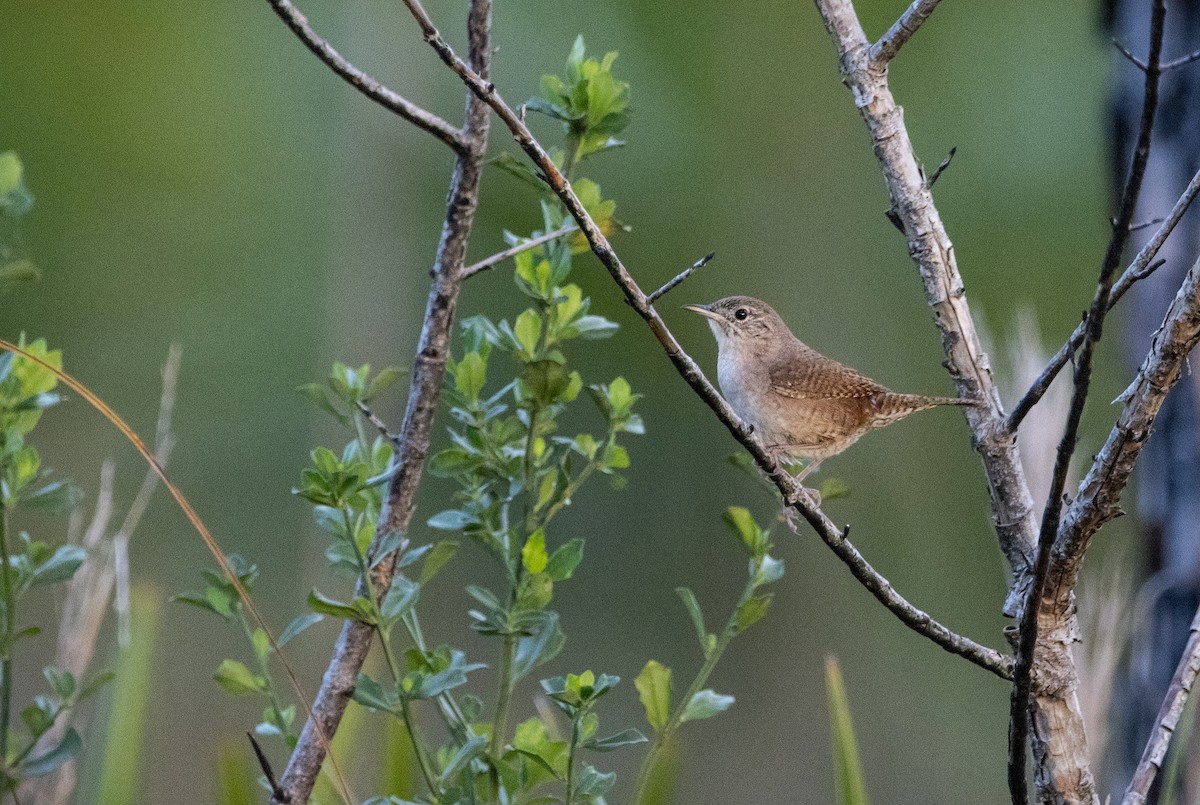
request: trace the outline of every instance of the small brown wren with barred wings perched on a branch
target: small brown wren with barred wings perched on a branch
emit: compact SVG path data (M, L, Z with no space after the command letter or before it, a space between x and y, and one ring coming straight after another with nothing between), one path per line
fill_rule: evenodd
M684 307L708 318L719 353L716 379L738 416L776 459L810 462L797 481L872 428L934 405L978 404L890 391L811 349L770 305L750 296Z

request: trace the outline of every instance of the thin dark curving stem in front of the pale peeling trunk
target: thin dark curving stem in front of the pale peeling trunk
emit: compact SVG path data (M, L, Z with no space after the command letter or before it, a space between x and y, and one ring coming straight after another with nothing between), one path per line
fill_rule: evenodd
M1096 344L1104 332L1104 317L1109 312L1109 299L1112 292L1112 280L1116 275L1126 244L1129 242L1129 224L1133 223L1138 197L1141 194L1142 179L1150 162L1150 140L1154 127L1154 113L1158 110L1159 58L1163 52L1163 26L1166 19L1165 0L1154 0L1150 18L1150 55L1144 67L1146 90L1141 108L1141 131L1129 164L1129 176L1121 194L1121 205L1112 224L1112 236L1100 266L1100 278L1096 294L1087 311L1084 341L1075 354L1074 394L1070 400L1070 411L1058 441L1058 453L1055 458L1050 492L1046 495L1045 510L1042 513L1042 529L1038 535L1038 555L1033 565L1033 583L1020 620L1020 638L1016 647L1016 669L1013 678L1013 697L1009 710L1008 732L1008 788L1013 805L1026 801L1025 782L1025 744L1030 728L1030 693L1032 685L1033 653L1037 647L1038 626L1042 619L1042 596L1045 590L1046 576L1050 572L1050 553L1058 536L1058 524L1062 518L1063 489L1067 486L1067 470L1075 455L1079 439L1079 423L1084 417L1084 405L1092 379L1092 356Z

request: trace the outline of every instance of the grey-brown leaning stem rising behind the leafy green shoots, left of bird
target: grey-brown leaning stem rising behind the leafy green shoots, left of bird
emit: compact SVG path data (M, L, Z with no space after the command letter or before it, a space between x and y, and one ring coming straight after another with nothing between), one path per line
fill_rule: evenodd
M491 0L472 0L467 20L470 70L474 74L484 77L488 74L491 62ZM445 379L450 330L462 287L467 241L479 200L479 181L487 150L488 122L487 107L474 95L468 94L466 124L462 131L463 148L458 152L450 182L446 217L434 258L433 282L430 287L425 320L413 365L408 404L401 423L400 439L396 443L396 456L392 459L396 471L388 483L385 503L368 555L373 555L377 551L382 535L389 531L406 531L413 516L416 489L430 450L438 397ZM372 571L376 590L386 591L391 585L398 558L398 552L395 552L376 565ZM360 584L359 595L365 594L366 588ZM319 740L319 735L322 733L332 735L337 731L354 691L359 671L371 648L372 635L372 626L366 624L352 620L343 624L320 690L313 701L312 715L300 733L300 740L280 781L286 797L272 797L271 801L275 805L308 800L325 758L326 744Z

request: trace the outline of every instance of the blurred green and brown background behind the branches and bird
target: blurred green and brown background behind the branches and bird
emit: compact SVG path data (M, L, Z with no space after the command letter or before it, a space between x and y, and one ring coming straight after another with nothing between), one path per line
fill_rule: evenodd
M905 5L859 2L868 32L878 35ZM460 82L400 4L311 0L302 8L356 65L461 120ZM461 48L464 4L430 0L427 8ZM1082 0L946 4L892 70L925 163L958 146L936 197L978 320L997 344L997 370L1020 305L1036 306L1057 346L1091 298L1106 238L1110 70L1096 17ZM407 370L449 152L335 78L265 2L125 0L53 14L42 4L6 4L0 20L0 150L25 163L37 202L22 232L44 272L0 299L0 335L28 332L62 348L67 370L145 435L168 344L184 346L172 474L226 549L263 567L262 606L282 626L311 584L336 584L323 570L324 537L289 489L312 445L341 434L295 388L322 379L334 360ZM770 301L815 348L892 388L952 392L811 4L498 4L493 78L505 97L518 102L542 73L559 72L580 32L589 52L619 50L617 73L632 84L629 146L586 167L632 226L616 241L626 265L653 288L718 253L664 305L706 368L715 344L678 305L746 293ZM538 131L557 136L548 120ZM499 126L492 143L493 154L515 151ZM538 221L532 194L490 172L470 258L502 248L503 228L527 232ZM520 311L510 274L504 266L473 280L463 313ZM624 325L588 346L586 380L629 378L646 394L648 434L630 445L628 489L593 486L564 516L559 534L587 537L588 554L556 596L569 642L542 675L619 674L626 684L606 702L606 723L642 726L631 683L646 660L673 666L679 679L701 660L673 589L696 589L715 619L744 570L720 512L745 504L768 519L775 504L727 463L734 443L598 263L581 258L575 280L596 312ZM1105 373L1096 400L1111 400L1120 385ZM401 397L378 413L398 423ZM1082 455L1109 419L1103 405L1093 411ZM80 401L47 416L41 446L47 463L91 491L100 461L116 457L119 500L132 498L143 473ZM827 510L853 524L859 547L899 590L949 626L1003 645L1004 567L960 416L934 411L872 434L822 474L850 483L852 497ZM427 480L415 522L444 507L449 488ZM432 533L421 524L410 536ZM841 659L876 801L1006 801L1008 686L904 629L808 530L779 529L776 543L787 577L770 615L734 643L713 680L737 705L684 729L677 801L829 801L827 654ZM132 560L136 577L163 597L197 587L212 564L163 497ZM424 615L427 633L480 660L494 647L469 630L462 587L490 572L468 547ZM245 648L198 611L167 605L161 618L146 738L186 761L148 759L138 799L211 801L217 745L241 740L259 716L257 702L222 695L211 679L223 656ZM334 633L324 624L290 649L310 690ZM487 672L479 677L491 691ZM518 715L527 717L532 686L523 691ZM622 773L614 803L630 793L636 755L610 756ZM86 788L86 765L83 775ZM355 781L362 797L372 786ZM80 801L92 800L85 792Z

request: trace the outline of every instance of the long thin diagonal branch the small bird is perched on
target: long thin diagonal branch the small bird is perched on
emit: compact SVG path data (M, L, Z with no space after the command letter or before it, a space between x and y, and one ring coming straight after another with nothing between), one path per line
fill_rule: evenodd
M751 435L749 426L733 413L733 409L721 398L713 384L701 372L696 361L683 350L679 342L676 341L676 337L667 329L666 323L659 317L658 311L650 305L647 294L642 292L632 276L630 276L629 270L620 262L620 258L617 257L617 253L608 244L608 239L605 238L595 221L588 215L588 211L571 188L570 182L568 182L562 170L554 164L554 161L521 121L520 115L505 103L493 84L476 74L455 54L438 34L437 28L421 7L419 0L404 0L404 5L408 6L418 25L420 25L426 42L442 56L446 66L462 78L467 88L496 112L497 116L508 126L521 149L542 170L546 182L566 206L568 212L575 218L580 230L588 239L593 253L595 253L600 263L617 282L629 305L637 311L638 316L642 317L647 326L659 340L667 358L674 364L676 370L683 379L713 409L718 419L730 429L730 433L742 443L758 465L773 479L780 493L791 499L799 498L799 501L794 504L794 509L812 525L817 535L833 549L834 554L850 567L851 573L876 600L883 603L888 611L895 614L910 629L941 645L947 651L964 656L979 667L1008 679L1010 674L1010 661L1008 657L970 638L956 635L910 603L895 591L892 584L878 571L868 564L858 549L845 539L841 530L823 512L811 506L804 495L797 494L799 485L787 473L780 471L774 458L769 457L758 440Z

